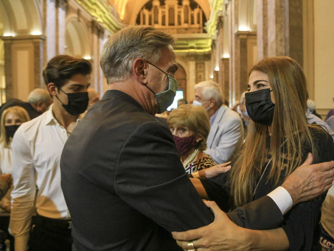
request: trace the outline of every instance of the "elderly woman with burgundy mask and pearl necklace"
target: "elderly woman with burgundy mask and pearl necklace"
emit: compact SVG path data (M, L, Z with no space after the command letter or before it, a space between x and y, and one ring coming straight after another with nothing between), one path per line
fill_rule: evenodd
M180 105L171 111L167 123L180 152L185 172L190 177L199 178L199 170L215 165L213 159L203 152L210 130L204 108L190 104Z

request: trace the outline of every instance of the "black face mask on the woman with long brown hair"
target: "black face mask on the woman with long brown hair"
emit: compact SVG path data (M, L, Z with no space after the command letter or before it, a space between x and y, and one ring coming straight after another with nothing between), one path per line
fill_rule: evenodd
M275 104L270 98L271 91L267 88L245 94L247 113L255 123L270 126L273 122Z

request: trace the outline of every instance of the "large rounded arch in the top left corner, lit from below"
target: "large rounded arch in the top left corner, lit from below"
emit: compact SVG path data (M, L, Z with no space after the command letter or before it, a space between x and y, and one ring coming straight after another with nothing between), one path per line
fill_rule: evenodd
M42 35L43 19L36 0L2 0L0 15L4 36Z

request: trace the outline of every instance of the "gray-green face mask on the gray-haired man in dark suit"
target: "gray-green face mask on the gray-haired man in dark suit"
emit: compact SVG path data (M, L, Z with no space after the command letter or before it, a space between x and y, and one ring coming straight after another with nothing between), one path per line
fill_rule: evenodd
M163 113L164 111L166 111L166 109L173 103L174 98L175 98L175 94L177 91L177 80L171 76L169 76L166 72L164 72L163 70L161 70L158 66L151 64L150 62L146 61L147 63L149 63L150 65L153 65L154 67L158 68L160 71L162 71L163 73L165 73L168 77L168 89L164 92L160 92L160 93L155 93L154 91L151 90L150 87L148 87L147 85L145 85L156 97L157 102L158 102L158 106L159 106L159 112L158 113Z

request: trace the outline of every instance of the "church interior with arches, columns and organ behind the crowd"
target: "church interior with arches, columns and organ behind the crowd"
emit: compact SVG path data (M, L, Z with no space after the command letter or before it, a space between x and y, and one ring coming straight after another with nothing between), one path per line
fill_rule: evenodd
M108 37L126 25L172 33L178 97L213 80L231 107L259 60L290 56L303 68L317 112L333 109L334 5L331 0L1 0L0 102L26 101L45 88L42 69L58 54L93 65L92 87L108 85L99 66Z

